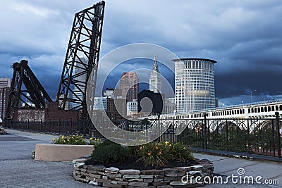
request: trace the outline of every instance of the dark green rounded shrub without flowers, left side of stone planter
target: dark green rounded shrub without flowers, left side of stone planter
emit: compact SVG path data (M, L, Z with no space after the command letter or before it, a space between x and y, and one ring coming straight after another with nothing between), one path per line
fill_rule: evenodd
M123 147L114 142L104 141L92 151L92 159L99 163L124 161L129 157L128 147Z

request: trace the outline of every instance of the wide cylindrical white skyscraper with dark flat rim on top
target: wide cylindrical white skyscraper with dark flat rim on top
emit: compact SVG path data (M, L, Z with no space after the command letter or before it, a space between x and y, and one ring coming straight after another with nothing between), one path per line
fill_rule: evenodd
M175 62L176 112L214 108L214 63L206 58L180 58Z

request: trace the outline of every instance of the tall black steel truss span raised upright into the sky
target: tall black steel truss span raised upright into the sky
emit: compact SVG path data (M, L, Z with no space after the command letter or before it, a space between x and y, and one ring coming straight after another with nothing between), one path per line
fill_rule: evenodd
M102 1L75 14L56 96L59 108L78 110L82 113L81 118L87 117L87 82L92 76L94 85L91 94L94 99L104 6Z

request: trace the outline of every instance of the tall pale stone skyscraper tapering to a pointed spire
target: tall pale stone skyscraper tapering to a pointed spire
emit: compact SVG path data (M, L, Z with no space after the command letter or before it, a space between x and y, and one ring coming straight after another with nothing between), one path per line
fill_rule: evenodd
M154 64L149 77L149 90L154 93L161 93L161 75L159 74L156 56L154 56Z

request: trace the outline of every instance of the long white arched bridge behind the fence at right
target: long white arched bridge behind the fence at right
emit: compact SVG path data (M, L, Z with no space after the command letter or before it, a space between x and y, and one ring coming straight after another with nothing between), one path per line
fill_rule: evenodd
M207 125L209 132L219 130L219 127L237 126L240 130L256 132L274 125L275 130L282 134L282 100L257 102L253 104L242 104L238 106L226 106L225 108L214 108L207 111L193 113L174 113L160 115L159 120L164 127L173 127L176 135L179 135L185 128L197 129ZM154 116L152 119L157 119ZM152 120L151 119L151 120ZM274 122L273 122L274 121ZM280 126L276 126L276 124Z

